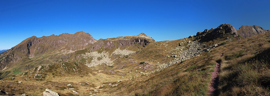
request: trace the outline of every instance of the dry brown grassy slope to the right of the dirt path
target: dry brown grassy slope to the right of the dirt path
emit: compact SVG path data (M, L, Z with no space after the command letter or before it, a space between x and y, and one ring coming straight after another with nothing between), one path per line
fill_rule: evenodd
M219 95L270 95L269 36L267 32L220 48Z

